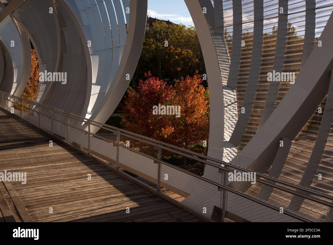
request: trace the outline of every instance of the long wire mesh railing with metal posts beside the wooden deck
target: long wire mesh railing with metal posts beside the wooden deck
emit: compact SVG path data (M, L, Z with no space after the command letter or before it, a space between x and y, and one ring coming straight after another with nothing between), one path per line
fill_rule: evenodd
M265 174L258 173L256 178L256 173L248 169L20 97L12 98L16 101L16 115L22 114L24 120L111 164L132 180L155 188L201 217L228 222L289 222L327 221L332 216L333 198L326 193ZM21 113L22 100L27 111ZM7 101L0 101L0 105L8 111L12 109ZM248 171L254 179L229 180L234 171Z

